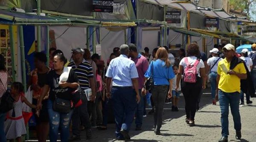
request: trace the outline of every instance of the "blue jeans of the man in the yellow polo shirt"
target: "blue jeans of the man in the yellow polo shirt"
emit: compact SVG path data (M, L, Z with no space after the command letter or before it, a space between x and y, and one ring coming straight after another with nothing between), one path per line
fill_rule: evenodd
M221 107L221 135L227 137L228 131L228 113L229 104L233 116L235 130L241 130L241 117L239 113L239 92L225 93L221 90L218 92L218 99Z

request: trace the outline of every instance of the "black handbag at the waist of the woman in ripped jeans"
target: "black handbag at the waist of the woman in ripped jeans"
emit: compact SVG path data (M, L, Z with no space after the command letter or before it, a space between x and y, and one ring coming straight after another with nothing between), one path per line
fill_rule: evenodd
M52 109L59 113L69 113L71 110L71 102L70 100L57 98L57 96L55 95Z

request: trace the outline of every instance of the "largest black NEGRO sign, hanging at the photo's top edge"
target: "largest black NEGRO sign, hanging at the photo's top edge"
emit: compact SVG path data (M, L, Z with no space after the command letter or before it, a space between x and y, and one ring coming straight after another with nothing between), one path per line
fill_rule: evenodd
M113 0L93 0L93 12L113 12Z

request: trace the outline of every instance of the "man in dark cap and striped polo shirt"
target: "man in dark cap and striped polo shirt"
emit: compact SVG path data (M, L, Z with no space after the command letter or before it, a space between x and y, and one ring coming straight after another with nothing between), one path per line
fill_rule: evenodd
M68 64L68 67L72 67L74 72L76 72L79 79L79 84L81 89L86 90L92 89L91 101L94 101L96 95L95 79L93 78L93 68L91 65L84 60L84 49L76 48L72 49L73 62ZM87 110L87 100L79 107L76 107L72 116L73 124L73 136L70 140L80 140L79 132L79 118L81 118L81 124L84 125L86 129L87 139L91 139L91 124L89 119L89 114Z

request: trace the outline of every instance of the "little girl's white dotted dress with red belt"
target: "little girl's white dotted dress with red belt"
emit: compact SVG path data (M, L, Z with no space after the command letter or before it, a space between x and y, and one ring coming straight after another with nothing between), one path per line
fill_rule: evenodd
M26 126L22 116L23 102L19 98L14 101L14 109L10 110L7 115L7 120L4 123L4 131L6 139L16 139L26 134Z

